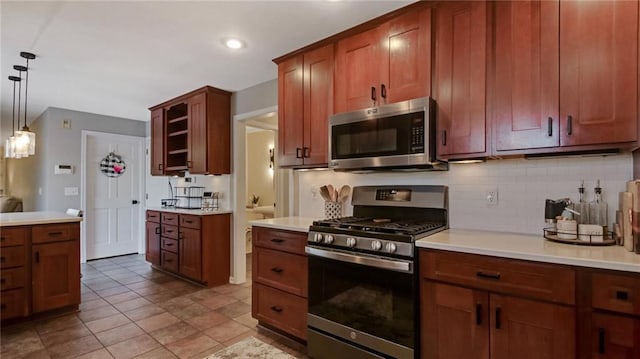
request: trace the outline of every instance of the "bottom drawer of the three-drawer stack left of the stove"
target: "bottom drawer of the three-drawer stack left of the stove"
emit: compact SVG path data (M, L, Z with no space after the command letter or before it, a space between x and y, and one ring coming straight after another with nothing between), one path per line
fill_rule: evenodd
M307 338L307 300L271 287L254 284L253 317L298 338Z

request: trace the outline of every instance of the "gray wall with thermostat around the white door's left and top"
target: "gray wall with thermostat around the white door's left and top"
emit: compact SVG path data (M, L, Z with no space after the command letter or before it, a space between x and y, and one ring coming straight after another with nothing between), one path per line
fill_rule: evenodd
M71 128L63 128L63 120ZM82 131L145 137L146 123L61 108L48 108L31 126L36 130L36 156L11 160L7 166L11 194L24 198L24 210L65 211L80 208L80 195L65 196L65 187L80 192ZM72 175L55 175L56 164L74 167Z

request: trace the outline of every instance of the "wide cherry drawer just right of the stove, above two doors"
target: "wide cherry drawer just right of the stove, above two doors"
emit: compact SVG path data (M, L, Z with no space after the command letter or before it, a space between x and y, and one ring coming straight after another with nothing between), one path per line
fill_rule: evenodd
M421 250L420 275L497 293L575 304L575 271L560 265Z

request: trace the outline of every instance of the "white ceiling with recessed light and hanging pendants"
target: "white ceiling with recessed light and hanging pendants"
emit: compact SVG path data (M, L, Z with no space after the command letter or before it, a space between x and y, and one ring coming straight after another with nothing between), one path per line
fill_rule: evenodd
M11 128L7 77L25 65L20 51L37 56L28 123L50 106L147 121L148 107L203 85L275 79L273 58L411 2L2 0L2 126ZM247 47L225 48L228 36Z

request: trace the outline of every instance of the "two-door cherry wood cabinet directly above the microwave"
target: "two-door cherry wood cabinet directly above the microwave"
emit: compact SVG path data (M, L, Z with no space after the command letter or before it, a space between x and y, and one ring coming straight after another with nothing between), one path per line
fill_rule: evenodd
M338 41L335 112L431 94L431 9L416 8Z

